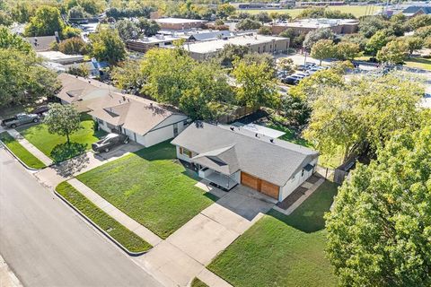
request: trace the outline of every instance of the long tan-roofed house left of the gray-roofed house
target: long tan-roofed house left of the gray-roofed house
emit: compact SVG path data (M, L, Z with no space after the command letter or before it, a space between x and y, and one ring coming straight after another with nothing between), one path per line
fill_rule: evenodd
M169 140L189 125L189 117L153 100L122 94L105 83L70 74L58 78L63 88L57 97L63 103L87 112L104 131L128 135L145 147Z

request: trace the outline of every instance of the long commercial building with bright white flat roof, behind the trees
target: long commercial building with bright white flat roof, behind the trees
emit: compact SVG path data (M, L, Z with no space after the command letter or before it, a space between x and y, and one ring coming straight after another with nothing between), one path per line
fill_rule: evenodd
M246 46L255 53L283 53L289 48L289 39L263 35L242 35L226 39L186 43L184 49L194 59L204 60L216 56L228 44Z

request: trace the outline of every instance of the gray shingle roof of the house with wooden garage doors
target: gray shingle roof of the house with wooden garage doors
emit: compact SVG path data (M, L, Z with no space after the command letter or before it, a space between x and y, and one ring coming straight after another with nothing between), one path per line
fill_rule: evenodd
M198 156L192 161L232 174L242 170L277 186L302 170L319 153L295 143L259 135L242 128L197 122L188 126L173 141ZM224 165L225 163L226 165Z

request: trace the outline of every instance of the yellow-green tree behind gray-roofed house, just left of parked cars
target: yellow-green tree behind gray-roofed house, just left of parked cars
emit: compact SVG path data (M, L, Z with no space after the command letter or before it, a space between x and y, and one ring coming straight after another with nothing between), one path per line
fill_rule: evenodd
M238 102L254 109L277 106L279 94L273 74L268 73L268 64L237 60L232 74L238 85Z

